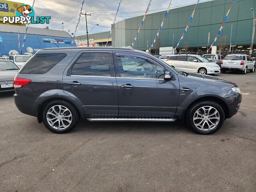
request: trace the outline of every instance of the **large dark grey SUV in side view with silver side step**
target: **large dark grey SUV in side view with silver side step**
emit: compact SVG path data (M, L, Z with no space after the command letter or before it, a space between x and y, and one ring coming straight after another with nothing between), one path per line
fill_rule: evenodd
M211 134L238 111L232 82L178 71L128 48L48 48L14 78L18 109L46 128L65 133L88 121L186 122Z

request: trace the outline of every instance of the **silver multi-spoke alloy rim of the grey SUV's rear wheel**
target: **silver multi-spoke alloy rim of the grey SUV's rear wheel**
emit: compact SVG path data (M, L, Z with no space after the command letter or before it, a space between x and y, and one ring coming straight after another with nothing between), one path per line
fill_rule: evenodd
M65 106L55 105L48 110L46 120L52 128L64 130L72 123L72 114Z

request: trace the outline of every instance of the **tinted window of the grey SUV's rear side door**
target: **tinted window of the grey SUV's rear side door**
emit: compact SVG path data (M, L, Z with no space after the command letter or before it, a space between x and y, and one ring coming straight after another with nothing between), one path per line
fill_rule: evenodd
M110 77L109 53L83 53L72 67L72 75Z

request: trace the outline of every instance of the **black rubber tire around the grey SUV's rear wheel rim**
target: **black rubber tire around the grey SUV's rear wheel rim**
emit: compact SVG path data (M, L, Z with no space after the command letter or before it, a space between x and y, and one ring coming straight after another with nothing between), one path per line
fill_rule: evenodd
M64 106L66 107L70 112L71 112L71 115L72 115L72 120L71 120L71 123L70 125L67 127L67 128L64 128L64 129L61 129L61 130L58 130L56 128L53 128L47 121L47 112L48 110L50 110L50 108L52 108L53 106L56 106L56 105L61 105L61 106ZM44 107L43 109L43 113L42 113L42 120L43 120L43 123L44 123L44 126L46 126L46 128L54 133L67 133L67 132L70 132L72 129L74 129L74 127L76 126L78 120L79 120L79 114L78 114L78 110L76 109L76 107L67 102L67 101L64 101L64 100L54 100L54 101L51 101L49 102L48 104L46 104L46 106ZM61 121L61 120L60 120ZM63 120L62 120L63 121Z

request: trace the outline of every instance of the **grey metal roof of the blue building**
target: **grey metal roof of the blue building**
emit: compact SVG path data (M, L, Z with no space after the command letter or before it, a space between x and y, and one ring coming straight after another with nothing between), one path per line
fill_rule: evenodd
M26 27L0 24L0 32L18 33L18 31L20 33L26 33ZM70 34L68 34L68 32L66 31L36 28L36 27L30 27L30 26L28 26L27 34L71 38Z

